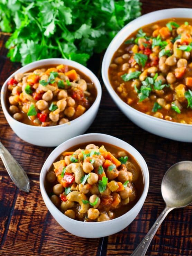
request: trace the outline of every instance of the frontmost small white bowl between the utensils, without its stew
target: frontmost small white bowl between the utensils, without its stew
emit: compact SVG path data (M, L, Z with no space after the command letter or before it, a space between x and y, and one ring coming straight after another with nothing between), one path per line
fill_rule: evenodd
M44 183L45 183L46 173L54 163L55 159L63 151L75 145L79 145L81 143L89 144L89 143L92 143L93 141L110 143L112 145L125 149L132 156L134 156L134 158L140 165L143 173L144 191L140 199L138 200L138 202L135 204L135 206L124 215L109 221L82 222L82 221L68 218L60 210L58 210L55 207L55 205L49 199L47 192L45 191ZM98 238L98 237L109 236L127 227L136 218L141 207L143 206L147 196L148 188L149 188L149 171L144 158L140 155L140 153L134 147L132 147L125 141L110 135L106 135L106 134L98 134L98 133L85 134L85 135L80 135L65 141L64 143L59 145L57 148L55 148L53 152L48 156L40 173L40 190L48 210L51 212L51 214L56 219L56 221L68 232L70 232L73 235L86 237L86 238Z

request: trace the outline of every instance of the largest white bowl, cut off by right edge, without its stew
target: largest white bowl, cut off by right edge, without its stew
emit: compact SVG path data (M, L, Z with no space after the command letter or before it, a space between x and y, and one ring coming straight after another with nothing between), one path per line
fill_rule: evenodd
M192 142L192 125L162 120L130 107L122 101L118 94L113 90L108 77L108 69L113 54L130 34L147 24L168 18L192 18L192 9L175 8L154 11L129 22L129 24L122 28L115 38L113 38L107 48L102 62L102 78L113 101L115 101L120 110L136 125L153 134L168 139Z

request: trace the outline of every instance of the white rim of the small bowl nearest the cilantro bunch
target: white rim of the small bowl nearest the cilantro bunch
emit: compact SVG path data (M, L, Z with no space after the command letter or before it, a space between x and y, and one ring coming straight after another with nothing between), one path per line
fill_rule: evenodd
M88 71L89 75L86 75L86 76L88 76L88 77L90 78L90 80L94 83L95 88L96 88L96 90L97 90L97 96L96 96L96 98L95 98L93 104L91 105L91 107L90 107L87 111L85 111L85 112L83 113L83 115L81 115L80 117L77 117L77 118L75 118L74 120L71 120L71 121L67 122L66 124L62 124L62 125L45 126L45 127L42 127L42 126L33 126L33 125L24 124L24 123L22 123L22 122L19 122L19 121L16 120L16 119L14 119L14 118L10 115L9 111L7 110L6 104L5 104L5 100L4 100L4 99L6 99L6 97L4 97L4 94L7 92L6 85L7 85L7 82L9 81L9 79L11 79L15 74L17 74L17 73L19 73L20 71L22 71L24 68L30 67L30 66L33 65L33 64L35 64L36 67L38 67L38 66L40 66L40 64L41 64L42 62L58 61L58 65L59 65L59 64L60 64L59 62L61 62L61 60L64 61L64 62L66 62L66 64L63 63L64 65L69 65L69 66L71 66L71 67L74 67L74 68L80 70L80 71L81 71L82 73L84 73L85 75L86 75L86 73L85 73L84 71L82 71L82 70L84 69L84 70ZM68 64L67 64L67 63L68 63ZM46 64L44 64L44 65L46 65ZM50 64L50 65L51 65L51 64ZM34 67L34 68L36 68L36 67ZM32 68L32 69L34 69L34 68ZM29 70L30 70L30 68L29 68ZM27 71L25 71L25 72L27 72ZM93 80L94 80L94 81L93 81ZM3 83L2 88L1 88L1 106L2 106L2 109L3 109L4 115L5 115L5 113L6 113L6 115L8 115L8 116L12 119L12 121L17 122L17 124L20 125L20 126L22 126L23 128L29 128L29 127L31 128L31 127L33 127L33 129L36 129L36 130L39 130L39 129L40 129L40 130L42 130L42 129L49 130L49 129L54 129L55 127L60 127L60 128L62 128L62 127L67 127L67 125L69 125L69 124L70 124L70 125L72 125L72 124L75 125L76 122L79 123L79 121L83 121L84 118L87 118L87 117L91 114L92 109L93 109L94 107L96 107L96 106L100 103L101 96L102 96L102 89L101 89L100 81L99 81L99 79L97 78L97 76L96 76L89 68L83 66L82 64L80 64L80 63L78 63L78 62L76 62L76 61L72 61L72 60L68 60L68 59L63 59L63 58L47 58L47 59L43 59L43 60L31 62L31 63L29 63L29 64L27 64L27 65L25 65L25 66L19 68L18 70L16 70L13 74L11 74L11 75L6 79L6 81ZM81 120L81 119L82 119L82 120Z

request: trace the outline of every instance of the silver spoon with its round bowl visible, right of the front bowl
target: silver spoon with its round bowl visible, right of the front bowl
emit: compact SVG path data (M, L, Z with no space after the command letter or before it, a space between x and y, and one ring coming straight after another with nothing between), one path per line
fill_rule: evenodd
M161 193L166 207L131 256L144 256L167 214L175 208L182 208L192 203L191 161L176 163L168 169L161 183Z

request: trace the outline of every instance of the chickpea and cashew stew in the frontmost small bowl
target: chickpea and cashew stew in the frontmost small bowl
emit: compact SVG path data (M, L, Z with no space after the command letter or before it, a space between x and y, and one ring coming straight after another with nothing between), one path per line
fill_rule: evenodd
M45 189L66 216L107 221L137 203L144 179L140 166L124 149L93 142L63 152L47 172Z

